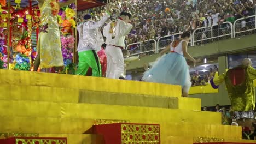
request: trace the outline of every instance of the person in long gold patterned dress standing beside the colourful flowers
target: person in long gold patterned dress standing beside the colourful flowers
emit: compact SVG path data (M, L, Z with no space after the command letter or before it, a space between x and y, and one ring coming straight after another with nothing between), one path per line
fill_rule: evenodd
M56 0L45 0L42 7L40 7L40 12L41 25L37 43L39 52L34 64L34 71L37 71L39 64L43 68L64 65L61 52L60 29L57 22L59 5Z

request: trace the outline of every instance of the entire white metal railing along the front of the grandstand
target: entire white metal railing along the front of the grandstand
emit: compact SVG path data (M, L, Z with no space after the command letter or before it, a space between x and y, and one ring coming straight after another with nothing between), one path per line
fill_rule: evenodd
M191 41L189 46L202 45L211 43L216 40L230 39L241 37L242 35L253 34L256 32L256 15L248 16L246 18L237 19L234 24L231 22L223 22L219 25L211 27L201 27L195 29L191 34ZM175 39L179 38L182 33L166 35L159 38L129 44L126 49L130 51L131 56L135 55L152 55L159 53Z

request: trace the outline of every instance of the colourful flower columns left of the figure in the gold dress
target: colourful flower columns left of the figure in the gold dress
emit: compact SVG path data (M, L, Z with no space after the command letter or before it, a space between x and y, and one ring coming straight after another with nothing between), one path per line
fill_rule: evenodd
M18 5L21 1L15 1ZM3 7L4 11L0 15L0 27L7 27L8 8ZM31 58L36 56L35 51L31 47L32 26L34 29L39 27L40 10L38 7L16 9L10 7L10 25L14 26L11 33L22 33L21 37L11 35L12 46L9 57L9 69L30 70ZM0 34L1 35L1 34ZM1 37L1 36L0 36ZM1 46L3 40L0 40L0 59L4 62L4 68L7 67L7 47ZM5 45L6 42L5 42ZM32 56L33 55L33 56Z

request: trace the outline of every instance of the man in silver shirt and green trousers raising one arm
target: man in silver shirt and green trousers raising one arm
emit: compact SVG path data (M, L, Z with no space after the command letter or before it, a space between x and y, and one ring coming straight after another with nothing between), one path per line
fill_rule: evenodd
M109 7L107 6L107 11ZM100 28L109 19L107 12L102 20L95 22L91 20L91 15L84 16L84 22L77 26L79 33L78 56L79 63L76 71L77 75L86 75L88 68L92 69L92 76L102 77L101 64L96 53L104 43Z

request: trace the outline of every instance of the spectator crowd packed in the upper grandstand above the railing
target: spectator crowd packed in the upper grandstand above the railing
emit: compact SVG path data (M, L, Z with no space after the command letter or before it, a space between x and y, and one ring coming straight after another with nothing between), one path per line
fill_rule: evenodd
M85 13L94 15L98 21L104 14L104 7L98 7L79 13L82 17ZM133 29L126 38L126 44L136 43L148 39L159 39L165 35L184 32L185 29L210 27L221 29L226 25L221 23L228 21L234 23L242 17L255 15L255 0L131 0L112 1L113 18L117 18L121 11L127 11L133 15ZM241 20L241 28L246 29L254 21L254 18ZM245 24L247 22L247 25ZM218 33L225 33L219 31ZM207 37L207 32L200 37Z

